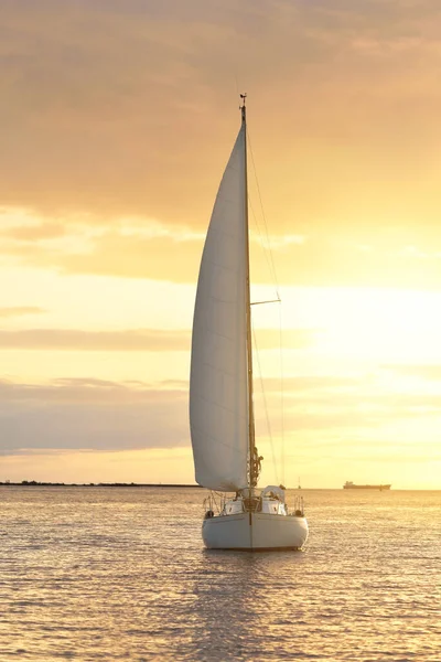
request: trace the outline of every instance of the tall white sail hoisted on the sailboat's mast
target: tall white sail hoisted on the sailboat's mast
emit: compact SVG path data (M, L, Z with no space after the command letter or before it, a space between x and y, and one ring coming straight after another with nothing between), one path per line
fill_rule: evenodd
M247 485L248 386L245 125L217 193L193 320L190 426L196 481Z

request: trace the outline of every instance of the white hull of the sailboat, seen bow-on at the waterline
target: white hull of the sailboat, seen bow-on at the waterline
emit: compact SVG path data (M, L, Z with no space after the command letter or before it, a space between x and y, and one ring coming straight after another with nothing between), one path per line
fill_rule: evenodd
M202 537L208 549L300 549L308 538L308 522L267 513L218 515L204 520Z

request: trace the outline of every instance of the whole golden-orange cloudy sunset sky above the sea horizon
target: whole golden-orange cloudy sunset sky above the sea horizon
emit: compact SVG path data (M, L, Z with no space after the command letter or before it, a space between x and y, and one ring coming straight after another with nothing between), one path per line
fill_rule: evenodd
M441 489L440 34L434 0L0 1L0 481L193 482L247 92L261 484Z

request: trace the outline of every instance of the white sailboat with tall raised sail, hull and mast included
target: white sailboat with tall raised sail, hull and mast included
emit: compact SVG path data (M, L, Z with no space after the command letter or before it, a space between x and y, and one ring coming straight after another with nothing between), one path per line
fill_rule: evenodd
M249 278L246 95L241 124L205 239L193 319L190 427L196 482L211 490L202 524L211 549L300 549L303 502L257 488Z

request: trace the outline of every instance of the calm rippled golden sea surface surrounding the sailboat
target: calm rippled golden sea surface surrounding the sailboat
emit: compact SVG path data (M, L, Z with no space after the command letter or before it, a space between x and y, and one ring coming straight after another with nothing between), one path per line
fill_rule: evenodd
M262 554L204 551L204 494L0 488L1 662L441 661L441 492L305 490Z

